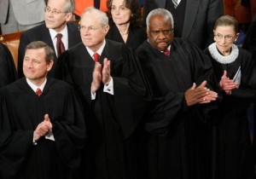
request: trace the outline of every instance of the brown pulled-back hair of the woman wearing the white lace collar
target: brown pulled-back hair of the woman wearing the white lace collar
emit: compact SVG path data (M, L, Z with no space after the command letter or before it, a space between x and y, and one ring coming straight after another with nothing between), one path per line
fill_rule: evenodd
M230 15L223 15L219 17L215 22L214 30L216 30L217 26L234 26L235 32L238 33L238 22Z

